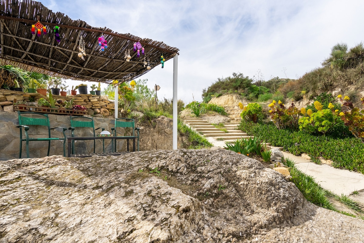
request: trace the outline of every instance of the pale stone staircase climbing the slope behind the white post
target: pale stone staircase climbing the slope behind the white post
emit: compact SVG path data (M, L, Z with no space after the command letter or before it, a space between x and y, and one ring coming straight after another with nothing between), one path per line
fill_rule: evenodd
M242 138L254 138L253 136L249 136L247 133L242 132L241 130L236 130L239 121L233 119L231 122L227 122L223 129L227 130L227 133L221 131L215 126L211 125L207 121L197 118L197 117L181 117L186 124L190 125L194 130L203 134L205 137L213 137L215 140L222 140L225 142L234 142L238 139Z

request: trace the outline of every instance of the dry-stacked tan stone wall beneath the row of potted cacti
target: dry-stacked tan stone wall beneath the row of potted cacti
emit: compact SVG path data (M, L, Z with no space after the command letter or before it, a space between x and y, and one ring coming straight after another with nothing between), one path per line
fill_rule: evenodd
M20 91L13 90L0 90L0 111L12 111L13 110L13 100L16 101L26 101L33 104L37 104L40 98L44 98L49 101L47 96L38 93L24 93ZM92 95L92 94L78 94L78 95L53 95L53 98L62 101L70 101L74 99L74 105L82 105L89 110L90 115L101 114L105 117L114 113L115 104L114 101L109 101L107 96L103 95ZM56 104L58 105L58 104ZM58 105L59 106L59 105ZM91 111L92 110L92 111Z

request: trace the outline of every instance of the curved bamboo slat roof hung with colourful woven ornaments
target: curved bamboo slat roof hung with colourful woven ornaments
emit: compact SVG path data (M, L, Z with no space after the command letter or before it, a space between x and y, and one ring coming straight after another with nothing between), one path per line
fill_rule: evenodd
M163 42L119 34L108 28L89 26L85 21L72 20L64 13L54 13L43 4L30 0L0 0L0 64L11 64L27 71L36 71L61 78L111 83L114 79L130 81L150 71L144 67L144 56L137 57L133 47L140 42L150 67L178 55L178 49ZM47 35L32 35L32 24L46 26ZM60 42L54 28L59 26ZM37 29L35 30L37 32ZM107 48L101 51L98 38L103 34ZM78 57L79 39L86 49L85 60ZM130 50L131 60L124 59Z

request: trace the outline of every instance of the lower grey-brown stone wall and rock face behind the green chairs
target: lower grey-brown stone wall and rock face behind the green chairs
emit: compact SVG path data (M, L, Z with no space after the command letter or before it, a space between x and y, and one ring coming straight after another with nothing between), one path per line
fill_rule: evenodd
M67 115L48 115L51 127L70 127L70 117ZM98 118L94 117L95 128L105 128L111 132L114 126L114 119L112 118ZM15 112L0 111L0 160L10 160L19 158L19 125L18 115ZM139 134L139 150L154 150L154 149L173 149L173 121L171 118L161 116L153 124L138 124L140 128ZM29 137L47 137L48 130L44 128L31 128L29 129ZM96 130L96 135L101 130ZM63 137L62 129L56 129L51 132L52 137ZM131 136L131 128L120 129L120 136ZM23 134L24 136L24 134ZM71 137L71 131L66 131L66 136ZM92 137L92 129L79 128L75 131L75 136L78 137ZM132 141L130 141L130 150L132 150ZM178 148L186 148L188 139L178 136ZM76 153L92 153L94 144L93 141L76 141ZM30 157L45 157L47 156L48 142L46 141L30 141ZM105 141L106 152L111 151L110 141ZM126 150L126 141L119 140L119 150ZM96 153L102 152L102 141L96 141ZM63 155L63 141L51 141L50 155ZM67 142L66 142L66 156L67 156ZM22 157L26 157L25 142L23 142Z

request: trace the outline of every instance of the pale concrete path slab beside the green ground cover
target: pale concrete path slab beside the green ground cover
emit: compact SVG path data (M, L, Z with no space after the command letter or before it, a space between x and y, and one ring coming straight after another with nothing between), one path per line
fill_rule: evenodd
M285 158L294 161L297 169L310 175L324 189L327 189L339 196L350 195L354 191L364 189L364 175L347 169L337 169L327 164L315 164L314 162L283 152Z

